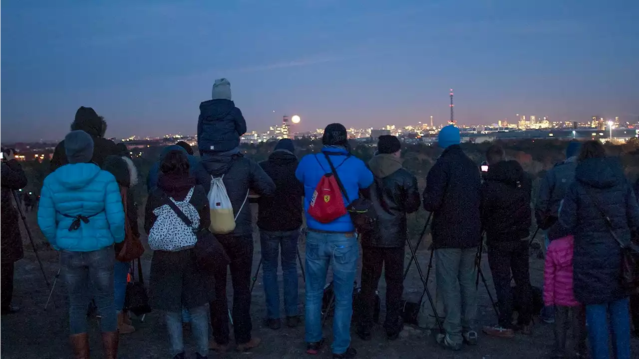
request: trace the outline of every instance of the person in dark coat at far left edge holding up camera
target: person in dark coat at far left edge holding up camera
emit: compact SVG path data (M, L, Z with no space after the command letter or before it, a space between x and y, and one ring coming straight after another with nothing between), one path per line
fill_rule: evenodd
M12 305L13 263L24 257L18 211L13 205L13 191L27 185L22 167L12 149L0 149L0 315L18 312ZM16 203L15 206L20 206Z

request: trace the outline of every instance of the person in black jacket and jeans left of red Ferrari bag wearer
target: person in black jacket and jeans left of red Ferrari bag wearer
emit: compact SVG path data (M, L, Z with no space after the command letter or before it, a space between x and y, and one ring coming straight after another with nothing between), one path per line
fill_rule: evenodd
M282 250L286 325L297 326L297 240L302 226L304 186L295 178L297 157L290 139L281 139L268 160L259 164L275 182L275 193L259 197L258 227L264 263L263 279L268 326L281 326L277 257Z

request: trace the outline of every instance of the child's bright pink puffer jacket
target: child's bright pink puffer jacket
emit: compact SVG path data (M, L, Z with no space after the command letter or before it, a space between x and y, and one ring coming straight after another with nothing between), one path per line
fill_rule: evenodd
M550 242L544 266L544 304L575 307L573 294L573 236Z

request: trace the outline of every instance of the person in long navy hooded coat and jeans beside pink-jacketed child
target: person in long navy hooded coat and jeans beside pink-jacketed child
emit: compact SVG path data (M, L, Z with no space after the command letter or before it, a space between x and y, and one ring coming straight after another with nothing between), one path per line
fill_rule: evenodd
M620 285L617 240L631 241L631 229L639 227L639 206L619 158L606 157L599 141L581 146L559 224L574 234L573 291L586 306L592 359L609 358L611 326L615 357L629 359L629 293Z

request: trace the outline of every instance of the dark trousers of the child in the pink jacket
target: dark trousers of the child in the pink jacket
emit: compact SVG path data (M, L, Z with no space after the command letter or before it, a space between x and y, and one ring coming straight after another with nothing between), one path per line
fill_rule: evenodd
M555 305L555 353L565 355L568 329L573 327L575 353L586 354L586 310Z

